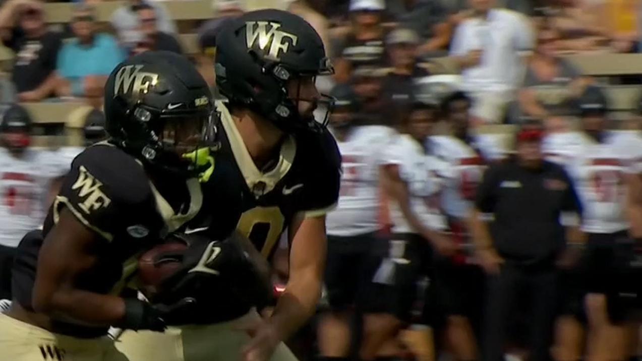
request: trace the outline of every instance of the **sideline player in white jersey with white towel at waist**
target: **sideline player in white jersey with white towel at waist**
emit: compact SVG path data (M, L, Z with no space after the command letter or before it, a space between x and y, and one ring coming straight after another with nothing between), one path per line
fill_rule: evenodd
M388 198L392 236L377 247L372 281L365 288L365 324L361 359L381 355L381 345L407 324L417 285L428 275L433 250L452 254L455 245L442 234L446 220L438 210L440 162L426 152L424 143L437 121L437 105L422 98L412 103L401 119L399 136L386 150L381 183ZM423 312L428 317L428 312ZM428 319L420 320L426 330ZM432 348L424 334L424 348Z

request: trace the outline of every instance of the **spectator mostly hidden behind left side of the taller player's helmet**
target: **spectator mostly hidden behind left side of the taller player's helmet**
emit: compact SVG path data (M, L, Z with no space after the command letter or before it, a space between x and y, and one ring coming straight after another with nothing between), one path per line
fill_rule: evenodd
M216 55L216 34L221 25L228 19L243 14L245 7L239 0L213 1L214 19L206 21L198 29L198 45L200 53L196 55L196 65L207 84L216 85L214 73L214 55Z

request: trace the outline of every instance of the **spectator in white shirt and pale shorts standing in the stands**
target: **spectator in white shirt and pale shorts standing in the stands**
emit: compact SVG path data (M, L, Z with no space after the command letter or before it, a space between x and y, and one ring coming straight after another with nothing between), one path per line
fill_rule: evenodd
M475 15L457 27L450 49L474 100L473 116L487 123L503 120L523 78L521 51L533 47L528 19L494 3L471 0Z

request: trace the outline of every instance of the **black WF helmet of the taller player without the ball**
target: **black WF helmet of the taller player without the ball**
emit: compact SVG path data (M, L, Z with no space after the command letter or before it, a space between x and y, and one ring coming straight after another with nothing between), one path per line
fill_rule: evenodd
M284 132L319 128L313 116L299 114L298 101L307 99L286 88L291 79L334 73L317 31L299 16L268 9L225 22L216 36L215 68L230 105L252 109Z

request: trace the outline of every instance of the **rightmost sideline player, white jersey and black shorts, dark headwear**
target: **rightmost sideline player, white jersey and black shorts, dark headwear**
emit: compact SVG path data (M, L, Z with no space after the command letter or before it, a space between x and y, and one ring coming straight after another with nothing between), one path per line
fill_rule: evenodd
M588 359L626 357L624 321L629 311L630 261L634 242L629 235L632 197L639 189L639 143L606 130L607 99L598 87L588 87L579 101L581 131L553 134L544 143L546 154L566 166L582 202L586 249L580 265L589 333ZM633 138L630 138L633 139ZM620 353L620 354L617 354Z

